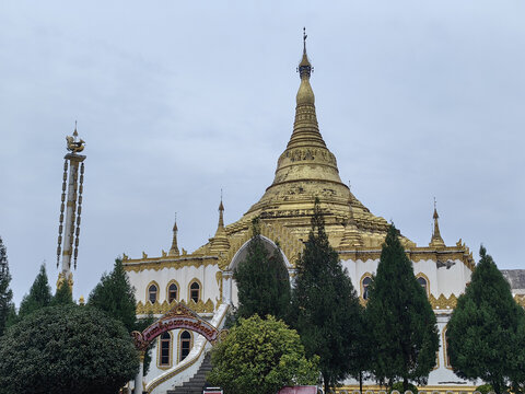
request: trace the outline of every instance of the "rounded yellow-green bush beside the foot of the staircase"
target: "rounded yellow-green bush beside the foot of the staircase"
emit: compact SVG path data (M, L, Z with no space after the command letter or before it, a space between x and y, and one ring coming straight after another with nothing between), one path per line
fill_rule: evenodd
M298 333L273 316L241 318L214 346L207 381L230 394L277 393L318 379L317 357L306 359Z

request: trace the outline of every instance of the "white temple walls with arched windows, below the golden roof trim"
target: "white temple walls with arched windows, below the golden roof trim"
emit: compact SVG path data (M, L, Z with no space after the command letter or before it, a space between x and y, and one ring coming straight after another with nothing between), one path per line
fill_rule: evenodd
M269 244L270 245L270 244ZM245 255L245 248L237 254L234 259L242 258ZM352 280L352 285L354 286L357 293L359 297L362 297L363 287L362 287L362 279L366 275L373 275L376 273L378 259L369 259L369 260L341 260L342 266L348 269L348 274ZM288 259L287 259L288 263ZM446 265L440 265L434 260L419 260L413 262L413 271L416 276L422 276L427 279L430 294L432 294L435 299L438 299L441 294L450 298L451 294L455 294L459 297L465 290L466 285L470 281L470 269L466 267L460 260L447 262ZM232 259L232 264L230 267L235 267L236 263ZM136 288L136 297L138 301L142 303L149 302L148 299L148 287L151 283L156 283L159 286L159 302L163 303L167 300L167 287L168 285L175 280L179 288L178 300L189 300L189 285L197 280L201 285L201 300L207 301L211 299L213 304L217 305L217 302L221 299L221 291L220 291L220 282L218 276L220 269L218 265L200 265L200 266L183 266L178 268L162 268L162 269L147 269L141 273L136 271L128 271L129 279L131 285ZM236 283L233 280L232 270L221 271L222 279L221 283L223 287L223 294L222 301L224 303L231 303L236 305L238 303L237 298L237 288ZM220 309L222 313L222 309ZM450 318L450 314L452 310L434 310L438 317L438 326L439 326L439 335L440 335L440 351L438 355L438 367L434 371L431 372L429 376L429 386L457 386L457 385L467 385L470 384L469 382L464 382L458 376L456 376L452 369L450 368L446 359L446 347L443 346L443 338L444 338L444 329ZM219 311L215 311L214 315L210 318L217 320ZM198 369L200 362L197 362L192 366L190 370L185 370L180 368L183 363L179 363L179 334L180 331L172 331L172 348L171 348L171 364L167 367L160 366L159 362L159 338L155 341L155 348L152 351L152 362L150 367L149 373L144 376L144 381L149 384L152 381L161 379L170 371L175 371L177 369L184 370L185 372L177 373L170 378L168 381L163 383L162 387L174 385L179 385L183 381L188 380L191 376L191 373ZM194 338L194 349L191 350L192 358L200 358L202 357L201 354L196 355L196 344L200 344L199 349L202 346L207 346L203 344L206 340L198 334L191 333ZM200 350L199 350L200 351ZM191 372L194 371L194 372ZM375 382L370 381L366 382L370 385L374 385ZM357 384L355 381L348 380L346 382L348 385ZM155 390L158 392L158 390Z

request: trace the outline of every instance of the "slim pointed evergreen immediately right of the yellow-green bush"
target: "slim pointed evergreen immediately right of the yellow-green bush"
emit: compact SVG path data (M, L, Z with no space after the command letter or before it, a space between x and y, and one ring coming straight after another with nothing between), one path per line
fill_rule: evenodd
M318 199L312 231L296 268L291 321L307 357L319 356L327 393L338 381L358 372L360 305L348 273L328 242Z

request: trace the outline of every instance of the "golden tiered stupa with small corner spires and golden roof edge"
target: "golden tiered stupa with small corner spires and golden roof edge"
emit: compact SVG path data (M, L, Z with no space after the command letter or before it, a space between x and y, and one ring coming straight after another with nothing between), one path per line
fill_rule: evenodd
M330 244L341 258L351 260L377 259L386 235L388 222L374 216L341 182L334 153L327 148L319 132L315 111L315 95L310 83L312 65L304 40L303 56L298 71L301 83L296 94L295 120L287 148L279 157L273 182L262 197L237 221L224 224L224 206L219 207L219 224L215 235L192 253L183 250L178 254L176 224L170 253L160 257L130 259L124 255L127 270L162 269L184 265L218 264L228 270L234 255L252 236L252 221L259 218L260 232L281 247L290 264L299 258L311 230L314 201L319 199L325 213L326 232ZM401 235L401 243L413 260L459 258L474 267L468 247L459 240L455 246L445 246L441 239L438 218L429 246L418 247Z

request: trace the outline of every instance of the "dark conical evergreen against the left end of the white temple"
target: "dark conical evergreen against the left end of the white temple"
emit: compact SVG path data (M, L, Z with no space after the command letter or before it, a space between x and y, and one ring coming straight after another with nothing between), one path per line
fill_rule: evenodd
M88 305L106 312L113 318L122 322L128 332L137 327L135 289L129 283L122 260L115 259L109 274L104 274L101 281L91 291Z

